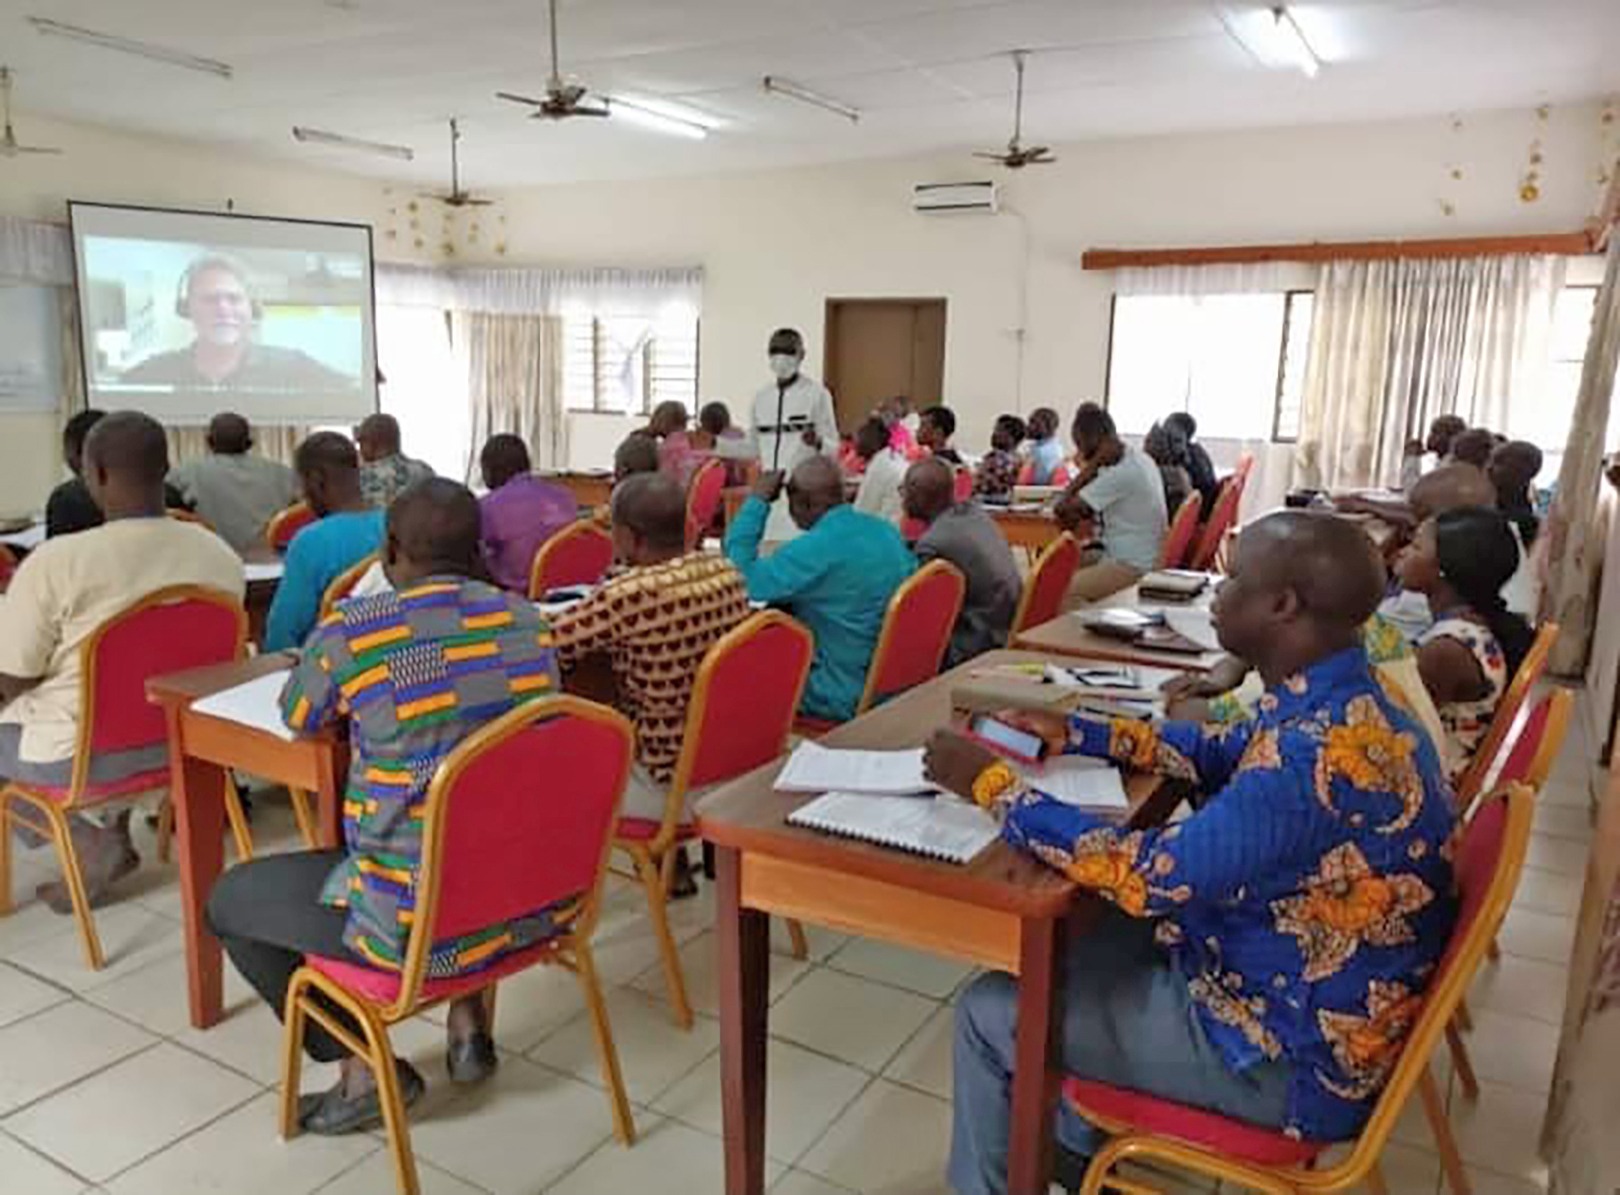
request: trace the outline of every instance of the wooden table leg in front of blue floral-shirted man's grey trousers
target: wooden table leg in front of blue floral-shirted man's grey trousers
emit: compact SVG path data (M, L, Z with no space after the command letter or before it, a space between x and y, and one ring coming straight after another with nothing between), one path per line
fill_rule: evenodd
M1009 1195L1045 1195L1058 1108L1063 1031L1063 921L1027 918L1019 944Z

